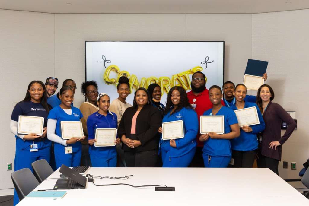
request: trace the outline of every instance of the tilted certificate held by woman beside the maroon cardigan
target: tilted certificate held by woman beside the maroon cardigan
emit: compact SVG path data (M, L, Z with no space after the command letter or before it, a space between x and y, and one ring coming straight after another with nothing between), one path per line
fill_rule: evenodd
M238 120L239 127L260 124L256 107L248 107L234 111Z

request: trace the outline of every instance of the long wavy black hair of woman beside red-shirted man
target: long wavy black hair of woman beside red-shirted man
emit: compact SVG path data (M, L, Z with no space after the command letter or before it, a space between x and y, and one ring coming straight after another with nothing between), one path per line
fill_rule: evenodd
M188 99L186 90L183 87L181 87L181 86L174 86L174 87L172 87L170 89L170 91L167 94L166 107L165 107L165 109L163 111L164 115L166 115L171 110L171 107L174 105L172 103L172 100L171 100L171 95L172 95L172 92L174 90L179 91L179 93L180 93L180 101L179 101L179 104L177 105L176 110L172 114L174 114L177 111L181 110L183 107L193 109L191 107L191 104L189 103L189 99Z

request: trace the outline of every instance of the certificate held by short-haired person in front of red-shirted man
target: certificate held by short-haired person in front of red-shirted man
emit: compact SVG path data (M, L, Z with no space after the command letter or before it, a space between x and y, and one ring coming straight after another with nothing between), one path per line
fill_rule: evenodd
M223 115L200 116L200 134L209 132L224 134Z

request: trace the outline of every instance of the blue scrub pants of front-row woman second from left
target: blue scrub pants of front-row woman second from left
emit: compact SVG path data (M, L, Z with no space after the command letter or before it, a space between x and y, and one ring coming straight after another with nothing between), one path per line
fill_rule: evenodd
M55 144L54 153L57 168L61 167L62 164L67 167L77 167L80 165L80 160L82 158L81 147L77 149L76 152L66 154L63 145Z

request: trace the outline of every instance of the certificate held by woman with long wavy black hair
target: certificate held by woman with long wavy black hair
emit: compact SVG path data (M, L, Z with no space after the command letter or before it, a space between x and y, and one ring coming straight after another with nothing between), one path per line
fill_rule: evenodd
M162 140L184 138L184 121L162 123Z

